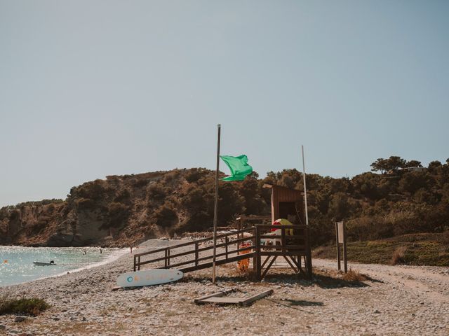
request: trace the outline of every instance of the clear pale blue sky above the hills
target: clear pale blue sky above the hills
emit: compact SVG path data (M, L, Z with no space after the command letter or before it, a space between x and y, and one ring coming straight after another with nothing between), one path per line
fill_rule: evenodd
M0 0L0 207L107 175L449 158L449 1ZM223 172L227 168L222 163Z

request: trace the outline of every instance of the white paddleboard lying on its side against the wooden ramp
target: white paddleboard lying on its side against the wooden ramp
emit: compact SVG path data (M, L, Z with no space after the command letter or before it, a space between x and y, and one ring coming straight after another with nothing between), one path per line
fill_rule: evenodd
M160 285L161 283L177 281L183 275L177 269L146 269L145 271L120 274L117 278L117 286L140 287Z

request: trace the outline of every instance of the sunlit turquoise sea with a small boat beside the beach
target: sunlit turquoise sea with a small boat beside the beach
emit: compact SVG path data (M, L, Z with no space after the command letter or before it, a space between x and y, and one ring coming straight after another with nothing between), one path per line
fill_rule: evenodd
M123 248L0 246L0 287L95 267L125 252ZM51 260L55 265L33 264Z

